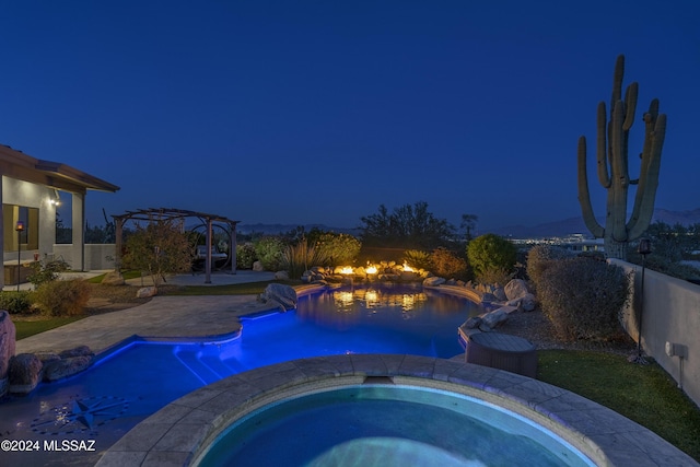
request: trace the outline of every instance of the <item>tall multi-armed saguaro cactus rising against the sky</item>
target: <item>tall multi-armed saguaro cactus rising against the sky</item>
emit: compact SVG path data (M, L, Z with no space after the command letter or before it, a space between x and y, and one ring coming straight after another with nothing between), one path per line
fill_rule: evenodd
M604 238L609 258L627 259L627 244L639 238L649 227L654 213L654 198L658 187L661 150L666 136L666 115L658 114L658 100L652 100L644 114L644 145L642 149L640 176L630 179L628 137L637 108L637 82L627 86L622 100L622 74L625 56L615 65L610 120L607 121L605 103L598 104L596 157L598 180L607 189L605 226L595 219L588 191L586 172L586 138L579 138L579 203L586 226L596 238ZM627 220L627 198L630 185L637 185L634 206Z

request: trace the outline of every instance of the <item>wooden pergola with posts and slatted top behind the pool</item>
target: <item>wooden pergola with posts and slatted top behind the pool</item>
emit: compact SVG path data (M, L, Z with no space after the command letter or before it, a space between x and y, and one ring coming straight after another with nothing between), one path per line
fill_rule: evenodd
M230 273L236 273L236 224L240 221L232 221L223 215L210 214L206 212L189 211L185 209L173 208L149 208L138 209L136 211L126 211L120 215L112 215L115 220L115 241L116 241L116 261L115 267L119 267L121 264L121 236L124 230L124 223L127 221L149 221L154 220L172 220L184 218L197 218L205 225L207 257L205 259L205 283L211 283L211 237L212 227L214 224L223 224L225 232L229 233L229 260L231 261Z

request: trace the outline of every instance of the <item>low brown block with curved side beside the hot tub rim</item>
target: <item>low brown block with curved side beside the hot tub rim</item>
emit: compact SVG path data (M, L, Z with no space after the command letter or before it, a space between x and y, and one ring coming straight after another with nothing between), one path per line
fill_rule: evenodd
M522 337L500 332L464 332L465 361L528 377L537 375L535 345Z

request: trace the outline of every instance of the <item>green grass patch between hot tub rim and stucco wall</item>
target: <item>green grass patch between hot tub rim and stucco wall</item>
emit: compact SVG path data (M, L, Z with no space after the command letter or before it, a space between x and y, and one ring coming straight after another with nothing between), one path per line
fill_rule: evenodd
M656 363L574 350L537 354L538 380L611 408L700 462L700 409Z

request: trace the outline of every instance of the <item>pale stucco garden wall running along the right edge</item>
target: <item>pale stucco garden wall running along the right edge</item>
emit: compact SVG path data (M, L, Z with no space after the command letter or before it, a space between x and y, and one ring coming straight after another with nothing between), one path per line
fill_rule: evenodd
M610 262L634 271L635 299L625 310L623 322L637 340L642 268L615 259ZM700 406L700 285L646 269L643 300L642 348ZM666 342L679 345L682 360L666 354Z

